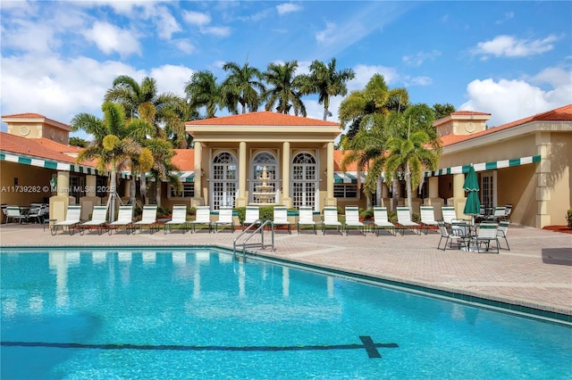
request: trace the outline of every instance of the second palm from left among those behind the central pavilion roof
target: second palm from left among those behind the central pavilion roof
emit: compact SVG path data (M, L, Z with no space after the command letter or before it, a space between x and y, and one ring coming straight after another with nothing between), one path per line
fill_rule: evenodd
M248 62L242 67L235 62L226 62L223 70L230 72L222 86L223 99L229 111L236 112L236 105L240 103L242 113L246 112L247 107L248 112L256 112L260 105L260 94L265 91L260 70L250 67Z

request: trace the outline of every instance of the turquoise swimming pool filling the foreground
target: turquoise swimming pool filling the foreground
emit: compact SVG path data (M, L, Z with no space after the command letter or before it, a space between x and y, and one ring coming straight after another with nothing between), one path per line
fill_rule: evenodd
M3 379L572 376L572 328L216 249L4 250Z

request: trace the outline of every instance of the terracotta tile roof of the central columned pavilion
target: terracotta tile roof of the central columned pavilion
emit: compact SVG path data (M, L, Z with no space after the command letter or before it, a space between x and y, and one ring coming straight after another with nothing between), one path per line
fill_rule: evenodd
M340 127L340 123L285 115L277 112L248 112L240 115L223 116L206 120L187 121L185 125L216 125L216 126L312 126Z

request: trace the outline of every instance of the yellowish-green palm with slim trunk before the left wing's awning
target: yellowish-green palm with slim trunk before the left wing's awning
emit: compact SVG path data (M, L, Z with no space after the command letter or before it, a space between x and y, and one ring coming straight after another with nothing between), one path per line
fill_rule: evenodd
M140 156L143 151L134 138L140 128L139 120L127 122L123 107L118 103L105 102L102 111L104 119L88 113L79 113L71 120L71 126L74 131L81 129L94 136L90 145L80 151L77 161L97 160L97 169L111 169L108 194L112 212L109 213L109 218L114 221L117 171L127 168L132 157L139 157L141 161L145 159Z

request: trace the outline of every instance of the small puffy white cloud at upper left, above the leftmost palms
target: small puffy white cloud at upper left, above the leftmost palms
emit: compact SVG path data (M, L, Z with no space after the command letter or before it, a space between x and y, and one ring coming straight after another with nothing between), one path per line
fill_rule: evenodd
M122 57L141 54L139 41L130 31L117 28L108 22L94 22L93 28L86 30L83 35L105 54L116 52Z

